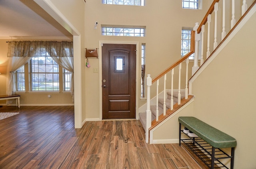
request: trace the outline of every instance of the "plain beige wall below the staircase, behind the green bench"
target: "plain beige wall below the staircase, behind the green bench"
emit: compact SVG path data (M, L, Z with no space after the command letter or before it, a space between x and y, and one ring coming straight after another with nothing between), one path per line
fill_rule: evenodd
M256 14L192 83L195 116L236 138L236 169L256 166L255 20Z

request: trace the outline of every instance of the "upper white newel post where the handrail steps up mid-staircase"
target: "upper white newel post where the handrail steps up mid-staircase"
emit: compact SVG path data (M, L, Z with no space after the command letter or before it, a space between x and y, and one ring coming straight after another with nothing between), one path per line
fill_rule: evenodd
M194 26L194 31L196 31L195 33L195 53L194 53L194 66L192 67L192 75L194 75L194 73L196 73L196 71L199 69L198 66L198 51L199 51L199 41L200 41L200 34L197 33L197 29L199 27L198 25L199 23L196 22L196 25Z

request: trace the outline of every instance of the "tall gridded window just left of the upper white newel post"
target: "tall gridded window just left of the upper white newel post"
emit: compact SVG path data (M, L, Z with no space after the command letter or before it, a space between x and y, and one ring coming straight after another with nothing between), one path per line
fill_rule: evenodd
M190 52L190 39L191 39L191 31L193 29L182 29L181 32L181 56L185 56L188 52ZM189 59L194 59L194 53L190 55Z

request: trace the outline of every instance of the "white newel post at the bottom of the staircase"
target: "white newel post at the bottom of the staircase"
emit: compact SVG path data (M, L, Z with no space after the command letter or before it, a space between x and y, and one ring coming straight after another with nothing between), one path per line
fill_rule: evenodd
M149 139L149 131L148 129L151 127L151 110L150 110L150 86L152 85L152 79L150 75L147 75L147 110L146 110L146 136L145 141L148 143Z

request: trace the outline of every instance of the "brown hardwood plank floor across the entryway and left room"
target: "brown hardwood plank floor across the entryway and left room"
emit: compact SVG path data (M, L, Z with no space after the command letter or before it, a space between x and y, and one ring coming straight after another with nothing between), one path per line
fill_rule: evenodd
M74 106L0 107L0 169L204 169L178 144L147 144L138 120L86 122Z

